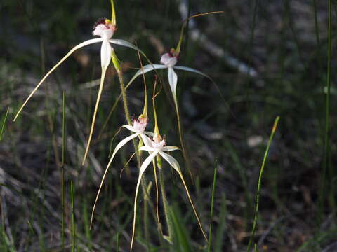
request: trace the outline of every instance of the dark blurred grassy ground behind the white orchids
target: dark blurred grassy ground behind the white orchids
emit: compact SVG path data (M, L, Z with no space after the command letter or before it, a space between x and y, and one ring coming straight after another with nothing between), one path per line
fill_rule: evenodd
M255 239L258 249L337 250L336 1L332 12L331 155L325 179L323 176L327 2L116 1L118 30L114 38L136 43L154 63L159 62L162 53L176 46L184 6L191 15L225 11L194 20L194 28L207 36L207 43L187 34L179 59L180 65L211 76L225 102L206 78L178 73L178 100L194 174L193 183L187 180L206 229L211 221L216 160L218 164L212 251L246 250L260 164L276 116L281 119L263 178ZM136 162L128 165L121 178L119 172L133 153L131 144L114 161L93 228L88 229L110 142L126 122L121 104L107 120L119 95L117 76L110 66L91 153L81 167L100 78L100 45L74 53L46 80L20 118L15 123L12 120L41 76L70 48L92 37L92 27L98 18L110 15L109 1L0 2L1 125L9 108L0 141L1 251L60 251L62 92L66 104L67 249L71 241L70 181L73 181L77 250L128 251L138 175ZM124 77L129 80L140 67L138 56L133 50L117 45L114 48L121 59ZM166 74L159 73L164 85L157 98L159 127L167 144L178 145L173 102L166 92ZM151 93L154 75L148 73L146 79ZM143 109L141 78L128 90L128 101L131 113L138 116ZM103 128L106 120L107 127ZM152 124L150 111L151 129ZM128 132L120 134L125 136ZM112 141L112 146L121 136ZM175 157L183 164L182 155L175 153ZM140 211L134 251L146 248L204 251L205 242L192 209L180 193L179 178L170 169L166 175L178 234L175 244L159 246L152 216L153 225L148 231L152 240L150 244L145 241ZM151 172L147 176L152 180ZM154 188L151 195L154 202Z

